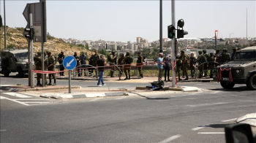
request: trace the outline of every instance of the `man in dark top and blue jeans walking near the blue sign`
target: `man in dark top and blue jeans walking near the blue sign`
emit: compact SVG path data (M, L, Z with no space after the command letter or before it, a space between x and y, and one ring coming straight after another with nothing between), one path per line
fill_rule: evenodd
M99 80L98 80L97 86L105 86L105 83L103 80L103 74L104 74L104 66L107 63L104 59L104 56L100 55L100 58L99 58L99 60L96 61L96 63L97 63L98 71L99 71ZM100 85L100 82L102 82L102 85Z

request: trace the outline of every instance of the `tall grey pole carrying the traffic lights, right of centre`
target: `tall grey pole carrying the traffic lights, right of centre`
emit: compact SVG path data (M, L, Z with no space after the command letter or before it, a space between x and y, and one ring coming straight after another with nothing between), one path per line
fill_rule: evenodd
M172 0L172 25L176 27L175 24L175 1ZM174 36L172 41L172 67L174 67L174 62L176 61L176 44L175 44L175 37L176 37L176 30L173 30ZM173 88L176 88L176 68L172 71L172 86Z

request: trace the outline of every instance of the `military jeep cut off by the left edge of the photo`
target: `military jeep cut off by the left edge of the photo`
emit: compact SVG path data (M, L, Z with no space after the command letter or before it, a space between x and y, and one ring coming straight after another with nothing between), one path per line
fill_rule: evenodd
M19 77L29 72L28 50L2 50L1 51L1 74L9 77L11 72L17 72Z

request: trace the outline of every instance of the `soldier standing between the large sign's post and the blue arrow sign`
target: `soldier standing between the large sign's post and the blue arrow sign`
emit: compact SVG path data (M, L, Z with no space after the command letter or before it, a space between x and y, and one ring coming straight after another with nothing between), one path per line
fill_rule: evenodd
M48 71L55 71L55 58L53 55L51 55L51 52L50 50L48 50L47 52L47 55L48 55L48 58L47 58L47 61L48 61ZM52 85L51 84L51 78L53 77L53 80L54 80L54 83L53 85L56 85L56 76L55 74L49 74L49 83L48 85Z

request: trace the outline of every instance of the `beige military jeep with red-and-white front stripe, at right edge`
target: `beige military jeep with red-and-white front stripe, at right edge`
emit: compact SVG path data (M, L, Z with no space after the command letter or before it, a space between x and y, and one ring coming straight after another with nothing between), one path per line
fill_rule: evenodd
M217 77L222 88L231 89L235 84L246 84L249 90L256 90L256 46L237 50L233 61L217 66Z

